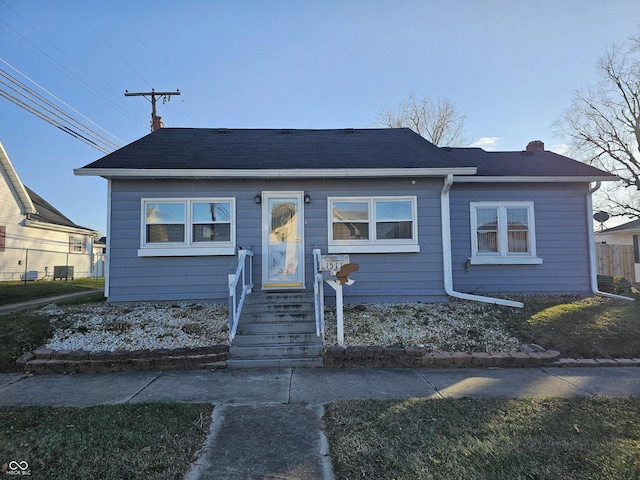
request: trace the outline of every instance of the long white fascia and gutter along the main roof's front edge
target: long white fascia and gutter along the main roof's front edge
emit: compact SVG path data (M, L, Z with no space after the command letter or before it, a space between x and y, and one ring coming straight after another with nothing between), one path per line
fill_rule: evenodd
M77 176L104 178L380 178L475 175L476 167L456 168L299 168L299 169L136 169L76 168Z

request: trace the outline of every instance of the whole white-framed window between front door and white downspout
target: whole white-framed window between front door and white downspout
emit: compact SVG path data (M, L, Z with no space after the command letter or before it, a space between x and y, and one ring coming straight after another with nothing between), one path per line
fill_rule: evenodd
M416 197L328 199L329 253L418 252Z

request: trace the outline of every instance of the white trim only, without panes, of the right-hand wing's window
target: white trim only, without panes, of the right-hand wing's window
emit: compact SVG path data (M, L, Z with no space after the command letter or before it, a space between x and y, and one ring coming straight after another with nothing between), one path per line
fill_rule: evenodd
M478 253L478 208L498 209L498 252ZM506 209L526 208L529 220L529 245L528 252L508 253L507 229L506 229ZM471 217L471 265L538 265L542 263L542 258L536 255L536 229L533 202L470 202Z

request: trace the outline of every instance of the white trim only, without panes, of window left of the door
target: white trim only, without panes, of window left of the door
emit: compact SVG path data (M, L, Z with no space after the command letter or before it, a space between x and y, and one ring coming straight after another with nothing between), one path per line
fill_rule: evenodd
M231 238L228 242L193 242L192 204L222 203L231 204ZM184 242L146 243L147 203L176 203L185 207ZM142 198L140 201L140 248L139 257L190 257L236 254L236 199L234 197L196 197L196 198Z

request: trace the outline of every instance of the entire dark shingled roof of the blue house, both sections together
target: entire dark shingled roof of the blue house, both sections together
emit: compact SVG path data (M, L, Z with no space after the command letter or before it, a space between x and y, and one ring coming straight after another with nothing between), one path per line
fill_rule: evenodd
M162 128L82 168L293 170L477 167L476 176L611 177L548 151L438 148L408 128Z

